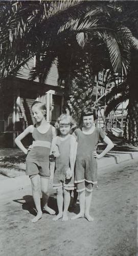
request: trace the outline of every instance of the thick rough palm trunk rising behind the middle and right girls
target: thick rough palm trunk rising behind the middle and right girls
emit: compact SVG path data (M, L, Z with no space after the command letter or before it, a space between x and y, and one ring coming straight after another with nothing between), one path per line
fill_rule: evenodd
M80 57L76 62L75 77L68 85L65 82L63 112L70 112L79 122L81 112L93 105L92 95L95 82L87 58Z

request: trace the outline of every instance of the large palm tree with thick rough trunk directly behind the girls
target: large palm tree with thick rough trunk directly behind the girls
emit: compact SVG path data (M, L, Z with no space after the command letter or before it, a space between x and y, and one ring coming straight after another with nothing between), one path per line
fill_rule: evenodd
M103 69L126 75L130 47L138 47L137 39L126 24L123 25L120 4L85 2L81 8L78 6L78 11L79 16L73 13L72 18L68 15L69 18L63 20L58 35L52 38L30 73L30 79L39 77L40 82L44 82L57 58L58 82L65 87L65 108L77 118L86 105L93 104L95 75Z

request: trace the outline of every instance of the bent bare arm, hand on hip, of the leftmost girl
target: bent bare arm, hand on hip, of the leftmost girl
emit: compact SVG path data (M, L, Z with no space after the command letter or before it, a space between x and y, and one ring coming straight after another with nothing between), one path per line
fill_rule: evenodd
M26 155L28 153L28 150L24 147L24 145L21 143L21 140L24 139L29 133L33 132L33 125L30 125L26 128L24 132L19 134L17 138L15 139L16 145L20 148L22 152L24 152Z

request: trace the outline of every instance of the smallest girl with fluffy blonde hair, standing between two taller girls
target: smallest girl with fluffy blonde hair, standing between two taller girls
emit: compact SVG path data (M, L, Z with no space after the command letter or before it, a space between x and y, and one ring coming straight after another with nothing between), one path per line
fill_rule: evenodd
M53 218L53 221L60 218L62 218L62 221L68 220L67 210L71 200L70 190L74 189L76 152L76 139L70 132L75 125L73 118L67 114L62 114L55 124L60 135L52 140L51 146L51 154L56 157L53 188L57 189L58 205L58 215Z

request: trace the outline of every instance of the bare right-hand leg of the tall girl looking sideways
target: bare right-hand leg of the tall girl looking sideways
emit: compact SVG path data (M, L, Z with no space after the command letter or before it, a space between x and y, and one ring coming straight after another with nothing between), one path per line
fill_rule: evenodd
M49 214L54 215L56 212L51 209L48 206L48 200L49 200L49 179L45 179L40 177L40 181L41 181L41 191L42 191L42 200L43 200L43 209L45 211L48 211Z

